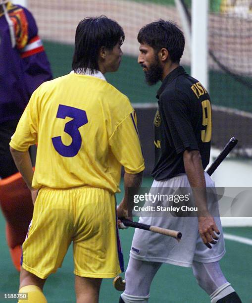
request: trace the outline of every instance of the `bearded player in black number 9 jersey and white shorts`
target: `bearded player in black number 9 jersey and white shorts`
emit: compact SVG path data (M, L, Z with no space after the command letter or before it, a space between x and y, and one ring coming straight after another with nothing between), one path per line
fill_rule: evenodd
M192 217L140 217L141 223L181 231L182 241L136 229L125 273L126 289L119 302L147 303L153 277L162 263L169 263L192 267L211 303L240 303L219 266L225 246L220 218L211 215L218 214L216 196L206 198L206 187L214 191L213 181L204 172L212 131L210 97L202 84L179 64L185 39L176 24L152 22L140 30L138 41L138 63L147 83L162 81L154 118L151 194L169 196L173 189L192 188L198 212ZM162 204L169 206L169 201Z

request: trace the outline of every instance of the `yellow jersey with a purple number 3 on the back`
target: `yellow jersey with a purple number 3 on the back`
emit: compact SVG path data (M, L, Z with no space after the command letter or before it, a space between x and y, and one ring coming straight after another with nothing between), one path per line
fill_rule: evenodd
M134 109L104 80L76 73L43 83L32 95L10 146L38 143L35 189L80 186L119 191L121 165L144 170Z

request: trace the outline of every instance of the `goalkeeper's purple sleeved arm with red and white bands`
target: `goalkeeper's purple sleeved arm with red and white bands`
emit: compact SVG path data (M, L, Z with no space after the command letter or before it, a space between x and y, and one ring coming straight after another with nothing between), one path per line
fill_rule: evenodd
M10 18L14 24L16 48L23 61L24 81L31 96L38 86L52 79L50 63L30 11L18 9L10 14Z

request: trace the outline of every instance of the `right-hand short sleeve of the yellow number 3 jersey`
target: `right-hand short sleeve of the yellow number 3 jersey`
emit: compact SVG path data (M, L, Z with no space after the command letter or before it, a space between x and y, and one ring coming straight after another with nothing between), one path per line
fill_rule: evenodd
M145 169L134 112L116 127L109 138L109 145L127 173L136 174Z

